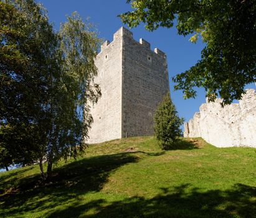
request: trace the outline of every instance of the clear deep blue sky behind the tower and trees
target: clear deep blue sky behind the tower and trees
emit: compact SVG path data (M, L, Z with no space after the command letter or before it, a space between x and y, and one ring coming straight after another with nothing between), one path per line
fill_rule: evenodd
M38 0L38 2L46 7L49 19L54 22L56 30L59 30L60 22L66 21L66 15L77 11L82 17L90 17L90 21L97 25L100 37L110 41L113 40L113 34L121 26L125 26L117 17L118 14L131 10L130 5L126 4L126 0ZM189 37L178 36L175 28L161 28L154 32L148 32L142 24L131 31L136 40L143 38L151 44L152 50L158 47L166 53L171 98L179 115L188 121L205 102L206 93L204 89L200 88L196 99L184 100L181 91L174 92L174 83L171 81L171 77L196 64L197 60L201 58L201 50L204 45L200 41L197 44L192 44L189 42ZM247 88L249 87L255 88L255 85L247 86Z

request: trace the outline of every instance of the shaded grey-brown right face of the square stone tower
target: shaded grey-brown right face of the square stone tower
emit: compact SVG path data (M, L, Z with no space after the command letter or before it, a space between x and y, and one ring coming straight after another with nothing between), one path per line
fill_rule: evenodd
M150 49L149 42L123 37L123 128L122 136L153 135L153 116L169 92L166 55Z

